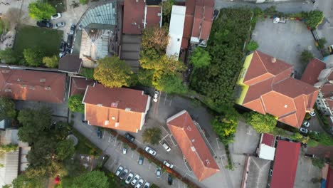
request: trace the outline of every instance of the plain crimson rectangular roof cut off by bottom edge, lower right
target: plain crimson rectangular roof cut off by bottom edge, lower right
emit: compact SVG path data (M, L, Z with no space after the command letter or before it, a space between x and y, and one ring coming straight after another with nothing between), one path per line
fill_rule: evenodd
M300 143L277 141L271 188L293 188L297 170Z

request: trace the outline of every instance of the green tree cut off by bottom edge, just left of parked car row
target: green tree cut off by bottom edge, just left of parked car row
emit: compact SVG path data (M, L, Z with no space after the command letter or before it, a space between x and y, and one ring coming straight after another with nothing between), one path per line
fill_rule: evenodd
M109 188L110 183L104 172L91 171L75 177L73 181L63 182L63 187L68 188Z

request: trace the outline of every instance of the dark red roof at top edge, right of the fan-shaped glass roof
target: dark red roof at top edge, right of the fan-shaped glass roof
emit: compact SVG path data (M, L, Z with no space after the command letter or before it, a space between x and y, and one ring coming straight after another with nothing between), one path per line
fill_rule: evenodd
M144 0L125 0L122 33L141 34L144 28Z

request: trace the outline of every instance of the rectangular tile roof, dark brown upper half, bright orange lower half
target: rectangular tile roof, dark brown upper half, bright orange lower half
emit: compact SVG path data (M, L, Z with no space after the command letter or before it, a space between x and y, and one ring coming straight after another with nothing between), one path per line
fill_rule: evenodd
M89 125L137 132L144 124L150 97L142 90L88 85L83 98Z

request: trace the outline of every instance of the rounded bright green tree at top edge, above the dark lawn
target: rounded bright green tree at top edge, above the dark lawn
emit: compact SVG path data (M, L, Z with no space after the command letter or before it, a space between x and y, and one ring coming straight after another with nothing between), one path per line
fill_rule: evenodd
M48 3L42 1L35 1L28 6L29 16L32 19L42 20L50 19L52 15L56 14L56 9Z

